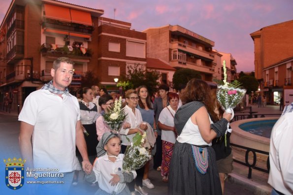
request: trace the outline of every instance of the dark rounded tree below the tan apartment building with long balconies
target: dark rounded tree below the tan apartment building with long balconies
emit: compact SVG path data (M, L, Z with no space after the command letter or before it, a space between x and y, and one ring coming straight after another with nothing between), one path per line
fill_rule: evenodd
M190 68L176 70L172 80L173 88L179 90L182 85L185 86L193 78L201 79L200 73Z

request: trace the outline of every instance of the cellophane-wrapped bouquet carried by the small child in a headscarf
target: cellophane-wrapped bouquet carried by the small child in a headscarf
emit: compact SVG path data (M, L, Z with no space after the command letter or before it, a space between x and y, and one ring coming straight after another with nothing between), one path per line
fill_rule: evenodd
M146 133L136 133L130 145L127 146L123 159L123 171L137 170L143 167L150 159L150 148L145 147Z

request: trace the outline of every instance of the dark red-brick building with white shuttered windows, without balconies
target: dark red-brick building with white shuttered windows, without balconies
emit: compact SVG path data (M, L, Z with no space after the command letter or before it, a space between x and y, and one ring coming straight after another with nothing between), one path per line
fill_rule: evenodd
M130 66L146 68L146 33L132 30L131 23L99 17L98 40L98 66L92 70L100 85L113 89L114 78Z

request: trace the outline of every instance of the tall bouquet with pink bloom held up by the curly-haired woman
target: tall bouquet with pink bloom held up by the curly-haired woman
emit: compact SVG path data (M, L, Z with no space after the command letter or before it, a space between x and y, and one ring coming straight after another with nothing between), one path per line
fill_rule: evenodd
M226 61L223 61L223 69L224 69L224 84L218 85L217 88L217 100L219 101L221 107L228 113L232 114L231 120L234 117L233 109L239 104L242 100L243 96L246 93L246 89L241 88L241 83L237 80L234 80L232 83L227 82L227 73L226 73ZM229 129L229 123L227 126L227 132L231 133L231 129ZM227 138L225 134L225 145L227 145Z

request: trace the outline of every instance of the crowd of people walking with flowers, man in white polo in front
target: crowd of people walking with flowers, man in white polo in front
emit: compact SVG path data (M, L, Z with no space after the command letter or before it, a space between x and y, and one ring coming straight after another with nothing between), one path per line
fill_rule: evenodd
M127 117L117 136L103 122L116 94L93 85L71 95L73 62L66 57L54 61L51 75L51 82L26 98L19 115L20 147L29 167L58 167L73 185L78 185L82 169L85 179L98 186L96 194L147 195L144 188L156 188L149 179L153 161L153 168L168 183L168 194L224 193L225 176L232 170L229 135L223 141L231 114L221 109L204 81L192 79L178 93L162 84L155 98L148 86L127 90L123 97ZM144 131L154 135L149 140L152 159L123 172L127 146ZM62 188L68 190L68 183ZM54 185L44 188L56 190Z

